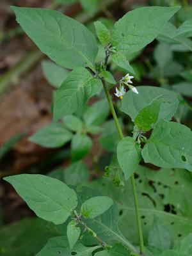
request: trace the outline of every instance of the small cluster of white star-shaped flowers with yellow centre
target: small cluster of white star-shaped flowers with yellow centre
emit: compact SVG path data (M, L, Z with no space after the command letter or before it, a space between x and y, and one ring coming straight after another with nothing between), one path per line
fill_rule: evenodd
M123 99L124 94L125 94L125 87L124 85L128 86L129 89L138 94L138 90L132 86L132 81L131 79L134 78L133 76L129 76L129 74L127 74L126 76L122 77L122 79L120 80L120 87L119 88L115 88L116 89L116 93L115 96L116 97L120 97L120 99Z

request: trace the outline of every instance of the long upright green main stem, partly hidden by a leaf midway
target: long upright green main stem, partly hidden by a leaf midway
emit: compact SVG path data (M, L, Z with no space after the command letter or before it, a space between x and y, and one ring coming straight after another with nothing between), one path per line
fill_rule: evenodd
M115 109L113 107L113 102L111 100L111 97L109 95L108 88L106 86L106 81L104 79L102 80L102 85L104 87L104 91L106 93L106 97L108 99L109 107L111 109L111 114L113 115L113 119L115 121L116 129L118 131L118 134L121 138L121 140L124 138L124 134L122 132L122 129L120 127L120 124L118 122L118 118L116 116ZM135 212L136 212L136 220L137 220L137 225L138 225L138 234L139 234L139 239L140 239L140 255L144 255L144 244L143 244L143 232L142 232L142 227L141 227L141 218L140 218L140 211L139 211L139 205L138 205L138 196L136 192L136 184L134 180L134 174L131 175L131 185L132 185L132 193L134 196L134 205L135 205Z

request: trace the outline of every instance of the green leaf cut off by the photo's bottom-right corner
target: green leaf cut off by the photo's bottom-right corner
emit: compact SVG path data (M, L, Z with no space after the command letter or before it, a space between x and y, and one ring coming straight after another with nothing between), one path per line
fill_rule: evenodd
M189 256L192 253L192 233L189 234L188 236L184 237L180 241L177 246L175 246L175 250L179 252L179 255L182 256Z

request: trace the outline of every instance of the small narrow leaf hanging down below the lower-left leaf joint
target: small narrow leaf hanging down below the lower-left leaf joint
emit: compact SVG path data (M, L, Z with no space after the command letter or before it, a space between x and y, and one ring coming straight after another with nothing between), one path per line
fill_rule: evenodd
M67 238L70 249L74 248L81 234L81 228L76 227L76 225L77 222L75 220L70 221L67 225Z

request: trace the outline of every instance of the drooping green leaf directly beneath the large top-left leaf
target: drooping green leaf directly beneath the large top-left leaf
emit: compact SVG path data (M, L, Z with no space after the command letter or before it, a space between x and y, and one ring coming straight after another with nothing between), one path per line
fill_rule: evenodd
M92 77L86 68L75 68L56 92L54 120L76 112L90 97L99 92L101 87L100 79Z

